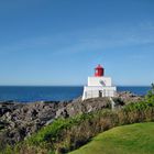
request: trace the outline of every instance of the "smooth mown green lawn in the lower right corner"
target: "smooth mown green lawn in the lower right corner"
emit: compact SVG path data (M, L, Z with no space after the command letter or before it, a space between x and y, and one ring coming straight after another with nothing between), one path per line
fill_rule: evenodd
M153 133L154 122L118 127L70 154L154 154Z

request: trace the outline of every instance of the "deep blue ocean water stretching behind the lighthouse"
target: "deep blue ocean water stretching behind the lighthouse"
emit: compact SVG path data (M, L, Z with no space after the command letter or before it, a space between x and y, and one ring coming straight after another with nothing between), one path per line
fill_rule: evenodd
M145 95L151 87L119 86L118 91ZM65 101L82 95L84 87L73 86L0 86L0 101Z

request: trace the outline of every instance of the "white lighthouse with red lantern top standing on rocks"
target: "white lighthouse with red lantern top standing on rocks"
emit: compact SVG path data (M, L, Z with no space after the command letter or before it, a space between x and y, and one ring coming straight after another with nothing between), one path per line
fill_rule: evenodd
M117 87L112 86L111 77L105 76L105 68L98 65L88 85L84 87L82 100L98 97L114 97Z

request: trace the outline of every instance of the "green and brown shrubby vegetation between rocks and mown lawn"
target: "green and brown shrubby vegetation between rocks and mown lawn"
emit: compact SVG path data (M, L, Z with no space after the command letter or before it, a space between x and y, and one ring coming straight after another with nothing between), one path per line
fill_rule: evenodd
M68 153L111 128L150 121L154 121L154 87L144 101L132 102L118 110L102 109L67 119L57 119L14 147L8 146L3 153Z

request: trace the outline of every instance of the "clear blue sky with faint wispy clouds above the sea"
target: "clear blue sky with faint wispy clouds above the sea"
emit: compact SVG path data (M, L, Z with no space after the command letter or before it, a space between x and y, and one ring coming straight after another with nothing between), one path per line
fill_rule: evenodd
M154 82L154 0L0 0L0 85Z

